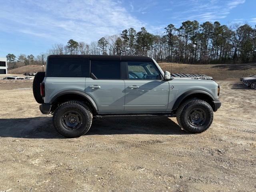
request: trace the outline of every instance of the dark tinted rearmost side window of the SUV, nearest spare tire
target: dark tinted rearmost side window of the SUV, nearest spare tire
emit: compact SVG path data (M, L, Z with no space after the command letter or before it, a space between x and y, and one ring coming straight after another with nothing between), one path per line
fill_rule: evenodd
M89 77L89 60L82 58L49 58L47 77Z

